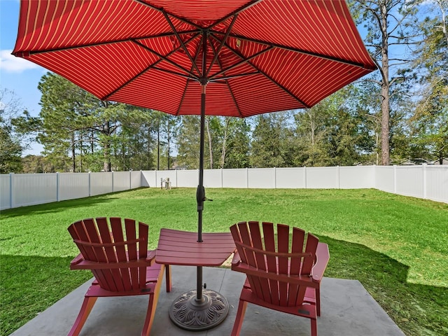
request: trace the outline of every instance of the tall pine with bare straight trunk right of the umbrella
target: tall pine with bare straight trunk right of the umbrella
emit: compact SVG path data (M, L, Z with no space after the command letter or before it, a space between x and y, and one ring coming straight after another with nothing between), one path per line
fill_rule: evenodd
M381 164L389 165L391 97L399 94L396 84L404 83L410 73L411 59L402 49L419 38L412 32L416 6L404 0L354 0L351 9L356 22L367 29L366 46L379 69L380 76L369 80L381 87Z

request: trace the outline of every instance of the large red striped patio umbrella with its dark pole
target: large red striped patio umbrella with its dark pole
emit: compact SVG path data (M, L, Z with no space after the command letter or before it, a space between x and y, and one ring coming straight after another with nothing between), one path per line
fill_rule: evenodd
M21 0L13 54L102 100L201 116L198 241L204 115L309 108L375 69L344 0Z

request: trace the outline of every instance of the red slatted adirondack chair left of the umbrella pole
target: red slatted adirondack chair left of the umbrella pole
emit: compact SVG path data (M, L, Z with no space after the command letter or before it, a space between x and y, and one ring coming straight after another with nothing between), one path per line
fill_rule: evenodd
M155 251L148 251L148 225L103 217L77 221L68 230L80 250L70 268L90 269L95 277L69 336L79 334L98 297L126 295L149 296L141 332L149 335L165 265L156 264Z

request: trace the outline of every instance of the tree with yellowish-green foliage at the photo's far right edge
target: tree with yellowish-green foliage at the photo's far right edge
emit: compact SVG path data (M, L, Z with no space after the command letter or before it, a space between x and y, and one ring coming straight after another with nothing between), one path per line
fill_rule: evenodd
M415 52L420 90L411 144L419 157L442 164L448 153L448 1L433 0L427 6L429 15L420 26L424 38Z

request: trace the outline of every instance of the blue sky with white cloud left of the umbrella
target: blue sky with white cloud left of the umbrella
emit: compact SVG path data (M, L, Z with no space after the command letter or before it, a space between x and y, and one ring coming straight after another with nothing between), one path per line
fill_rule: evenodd
M41 92L39 80L46 72L41 66L10 55L17 38L19 0L0 0L0 87L14 92L22 108L38 116ZM39 154L42 146L33 144L27 154Z

